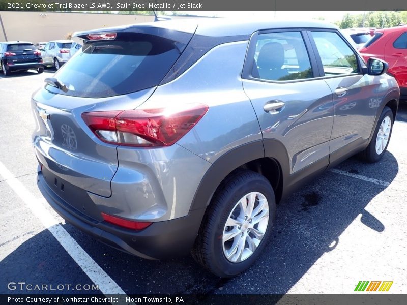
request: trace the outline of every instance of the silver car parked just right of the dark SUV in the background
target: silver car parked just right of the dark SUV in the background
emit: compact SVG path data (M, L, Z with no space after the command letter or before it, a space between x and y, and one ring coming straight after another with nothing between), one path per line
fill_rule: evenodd
M53 66L59 70L69 59L72 43L71 40L49 41L41 51L44 66Z

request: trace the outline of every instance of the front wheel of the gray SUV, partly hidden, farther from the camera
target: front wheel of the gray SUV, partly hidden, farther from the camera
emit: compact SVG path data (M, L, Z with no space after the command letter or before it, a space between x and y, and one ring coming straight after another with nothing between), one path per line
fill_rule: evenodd
M391 132L393 130L393 112L389 107L385 107L377 121L373 137L369 146L362 151L362 158L367 162L377 162L383 158L389 145Z

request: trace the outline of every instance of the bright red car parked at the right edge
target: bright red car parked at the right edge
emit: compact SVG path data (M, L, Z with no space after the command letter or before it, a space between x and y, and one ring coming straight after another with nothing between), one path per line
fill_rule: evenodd
M377 29L359 52L365 60L370 57L385 60L389 64L387 73L400 86L401 99L407 99L407 25Z

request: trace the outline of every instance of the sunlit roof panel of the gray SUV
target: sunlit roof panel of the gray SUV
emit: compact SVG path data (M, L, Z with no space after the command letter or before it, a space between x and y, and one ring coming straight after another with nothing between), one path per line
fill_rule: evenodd
M124 31L132 27L159 27L173 29L175 31L195 33L198 35L224 37L251 35L261 29L278 28L329 28L337 29L333 24L314 21L283 21L283 20L240 20L237 18L191 18L165 20L157 22L137 23L118 27L100 28L91 31L76 32L74 36L82 36L90 33Z

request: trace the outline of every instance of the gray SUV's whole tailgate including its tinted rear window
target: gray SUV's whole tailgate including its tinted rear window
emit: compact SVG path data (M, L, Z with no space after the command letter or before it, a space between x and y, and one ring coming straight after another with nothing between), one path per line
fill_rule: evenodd
M52 174L53 179L47 180L50 187L55 179L60 187L62 179L100 196L111 195L117 145L100 140L82 114L119 114L144 103L192 36L157 28L139 32L132 28L117 33L115 39L85 41L79 54L53 76L65 86L47 84L33 95L37 121L33 142L38 160Z

